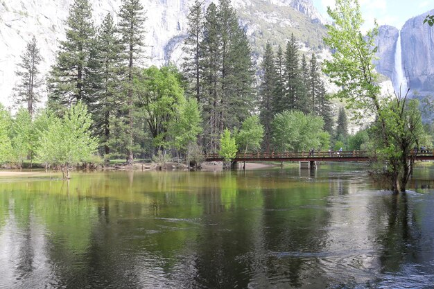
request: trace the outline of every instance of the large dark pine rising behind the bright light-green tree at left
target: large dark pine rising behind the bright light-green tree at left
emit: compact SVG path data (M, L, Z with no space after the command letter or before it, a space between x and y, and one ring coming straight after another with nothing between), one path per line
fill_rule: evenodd
M49 107L58 112L64 106L82 100L86 105L94 102L91 73L92 46L95 29L92 7L88 0L75 0L66 21L66 40L60 42L55 65L49 78Z

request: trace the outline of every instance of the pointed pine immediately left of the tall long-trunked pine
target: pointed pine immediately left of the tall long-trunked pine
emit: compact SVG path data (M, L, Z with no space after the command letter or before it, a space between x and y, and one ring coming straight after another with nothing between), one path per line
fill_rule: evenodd
M103 152L108 159L110 154L110 119L116 112L119 99L119 52L121 46L116 34L116 26L112 15L107 14L98 29L96 42L98 50L98 103L93 112L94 130L103 146Z

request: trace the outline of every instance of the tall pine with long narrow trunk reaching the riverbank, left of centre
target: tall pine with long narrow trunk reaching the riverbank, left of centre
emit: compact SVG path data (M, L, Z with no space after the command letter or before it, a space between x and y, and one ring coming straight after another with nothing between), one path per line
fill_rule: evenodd
M140 0L123 0L121 10L119 11L119 33L121 34L122 56L125 62L125 73L123 75L123 89L126 92L124 100L125 112L122 117L125 123L128 123L126 140L128 146L127 162L129 164L134 160L134 104L133 104L133 78L136 73L137 63L134 61L141 55L141 49L144 46L144 7L141 6Z

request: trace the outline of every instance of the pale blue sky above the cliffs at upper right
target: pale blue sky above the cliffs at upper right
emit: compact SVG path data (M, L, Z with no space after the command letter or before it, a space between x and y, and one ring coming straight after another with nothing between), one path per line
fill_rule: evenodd
M323 17L327 17L327 6L333 7L335 0L313 0L313 5ZM365 30L372 28L374 19L379 25L388 24L401 29L403 24L417 15L434 9L433 0L359 0Z

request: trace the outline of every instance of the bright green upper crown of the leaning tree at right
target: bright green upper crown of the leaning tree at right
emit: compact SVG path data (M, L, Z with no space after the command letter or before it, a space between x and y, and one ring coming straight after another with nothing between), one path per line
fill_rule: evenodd
M379 110L380 87L373 64L377 26L366 35L361 33L358 1L336 0L335 10L328 8L327 12L334 23L327 25L329 36L324 42L335 53L332 60L324 61L324 72L341 87L336 96L356 110ZM356 116L362 117L357 111Z

